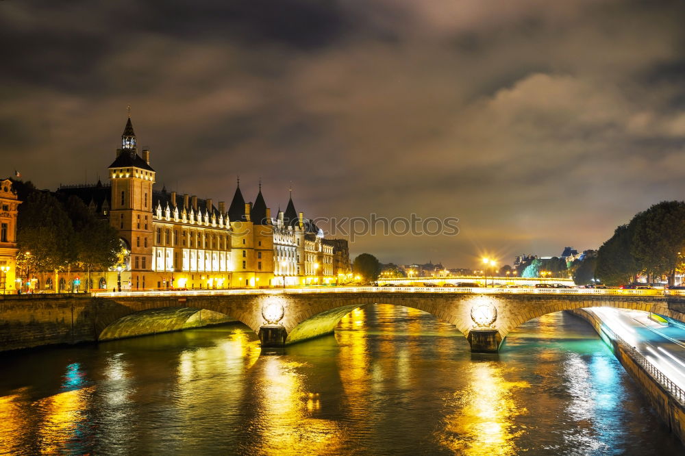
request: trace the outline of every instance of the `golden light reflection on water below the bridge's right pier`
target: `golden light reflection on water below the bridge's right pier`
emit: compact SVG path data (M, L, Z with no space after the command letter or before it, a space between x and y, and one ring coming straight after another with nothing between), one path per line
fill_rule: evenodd
M464 373L471 377L469 385L454 394L450 405L456 412L445 418L438 442L460 455L515 455L514 439L525 431L516 429L514 419L527 409L516 404L514 392L529 383L504 380L492 363L474 364Z

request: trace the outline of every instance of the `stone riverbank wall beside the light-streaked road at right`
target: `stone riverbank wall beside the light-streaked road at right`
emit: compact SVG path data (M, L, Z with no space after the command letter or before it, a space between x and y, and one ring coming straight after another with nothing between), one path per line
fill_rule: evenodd
M623 368L628 372L630 377L640 386L643 394L647 397L649 404L654 409L656 414L666 425L671 429L677 438L685 444L685 403L683 398L677 398L677 394L671 391L667 381L660 381L649 372L645 366L640 364L638 353L632 353L633 350L627 344L621 344L610 336L610 330L605 330L601 320L590 312L583 309L566 310L579 318L586 320L599 337L609 345L616 359L619 360ZM673 385L670 385L673 387Z

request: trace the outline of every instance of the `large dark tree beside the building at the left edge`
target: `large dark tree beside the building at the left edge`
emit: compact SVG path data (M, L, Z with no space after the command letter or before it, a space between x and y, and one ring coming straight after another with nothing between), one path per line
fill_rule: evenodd
M58 270L73 258L73 228L60 201L32 192L19 206L16 240L27 270Z

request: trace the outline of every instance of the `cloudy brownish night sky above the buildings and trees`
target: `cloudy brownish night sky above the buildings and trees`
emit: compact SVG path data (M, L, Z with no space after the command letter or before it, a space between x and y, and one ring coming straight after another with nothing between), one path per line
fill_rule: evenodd
M158 188L275 212L458 217L353 255L473 267L596 249L685 197L682 1L0 1L0 175L105 180L126 121Z

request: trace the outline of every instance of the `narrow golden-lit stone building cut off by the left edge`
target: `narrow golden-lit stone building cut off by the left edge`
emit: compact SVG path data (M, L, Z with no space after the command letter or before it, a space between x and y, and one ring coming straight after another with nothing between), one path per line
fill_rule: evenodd
M16 214L21 201L12 181L0 181L0 292L16 290Z

